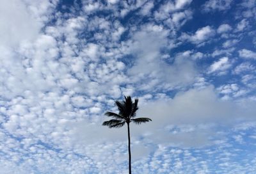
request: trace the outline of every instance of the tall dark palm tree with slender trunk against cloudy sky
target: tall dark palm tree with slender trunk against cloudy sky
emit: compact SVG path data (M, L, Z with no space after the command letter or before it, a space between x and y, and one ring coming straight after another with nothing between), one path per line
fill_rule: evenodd
M119 113L106 112L106 116L111 116L115 119L103 122L102 125L106 125L109 128L119 128L123 127L127 123L128 130L128 152L129 152L129 174L131 171L131 138L130 138L130 123L134 122L138 125L141 123L152 121L150 118L134 118L136 116L136 111L139 109L138 102L139 99L135 99L132 102L130 96L125 96L123 101L115 101L116 106L118 107Z

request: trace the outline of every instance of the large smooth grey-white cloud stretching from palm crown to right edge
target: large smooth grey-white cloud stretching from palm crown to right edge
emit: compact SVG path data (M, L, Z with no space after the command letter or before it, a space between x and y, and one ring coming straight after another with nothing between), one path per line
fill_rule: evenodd
M233 85L233 87L237 91L236 86ZM255 108L253 108L253 104L254 103L249 100L241 104L220 100L211 87L207 87L202 90L188 90L177 93L173 99L144 102L144 104L140 106L138 116L147 116L152 118L153 122L141 125L141 127L138 128L136 126L132 126L132 130L134 132L134 136L136 136L136 133L141 130L148 132L148 139L151 139L152 141L154 141L154 139L162 142L170 141L181 146L182 144L184 146L207 145L207 143L210 143L206 138L207 135L209 136L209 134L214 134L211 131L210 125L205 127L205 134L197 132L198 129L188 129L190 130L188 132L178 131L177 136L172 135L172 132L170 131L169 133L167 131L165 132L163 127L167 128L168 125L200 125L201 123L214 122L233 124L237 119L242 117L243 119L250 120L253 118L253 110L255 110ZM244 115L242 116L240 114L244 113L245 108L248 109L246 111L246 115L248 117L244 117ZM157 131L154 131L155 129ZM143 134L143 132L141 132L141 134ZM196 144L193 144L193 139L188 138L193 135L198 138L198 141L196 140ZM177 138L179 136L188 137L179 139ZM145 138L147 138L146 135ZM199 139L201 139L201 141Z

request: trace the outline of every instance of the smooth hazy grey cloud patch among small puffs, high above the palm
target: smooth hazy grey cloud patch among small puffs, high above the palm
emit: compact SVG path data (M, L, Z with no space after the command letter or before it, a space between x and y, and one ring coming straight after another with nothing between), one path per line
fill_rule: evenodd
M135 65L129 69L129 74L132 75L133 80L138 79L138 74L142 78L150 79L150 83L143 83L141 90L149 90L154 86L161 88L164 85L173 88L193 83L197 72L192 61L177 58L172 65L169 65L163 59L160 59L160 51L167 44L164 31L140 31L134 35L134 40L136 42L132 43L131 52L135 53L134 55L138 59ZM138 81L141 81L140 78Z

